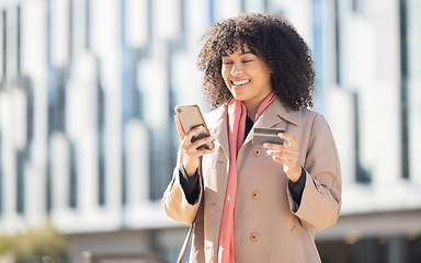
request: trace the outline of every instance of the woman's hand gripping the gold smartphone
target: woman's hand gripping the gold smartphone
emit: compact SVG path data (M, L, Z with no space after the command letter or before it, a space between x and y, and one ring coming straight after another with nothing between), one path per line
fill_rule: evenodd
M215 151L215 148L212 150L208 149L197 149L200 146L205 145L215 138L209 136L203 139L198 139L192 142L192 138L195 135L198 135L201 132L205 129L205 127L197 126L194 129L191 129L187 134L185 134L183 127L181 126L180 118L175 115L175 127L179 133L180 141L181 141L181 150L183 151L183 165L185 173L187 176L193 176L198 168L200 157L204 155L209 155Z

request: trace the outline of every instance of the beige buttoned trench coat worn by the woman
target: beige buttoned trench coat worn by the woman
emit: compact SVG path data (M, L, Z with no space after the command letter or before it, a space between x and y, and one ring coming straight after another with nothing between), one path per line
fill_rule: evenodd
M198 202L190 205L180 184L181 152L162 198L167 215L181 224L192 224L197 215L190 262L200 263L217 262L229 167L227 106L207 114L206 124L216 152L202 159ZM340 164L331 130L320 114L307 108L288 112L278 100L254 126L285 128L295 137L306 184L297 206L282 165L262 146L251 144L252 133L248 135L237 160L236 262L320 262L314 230L335 224L341 209Z

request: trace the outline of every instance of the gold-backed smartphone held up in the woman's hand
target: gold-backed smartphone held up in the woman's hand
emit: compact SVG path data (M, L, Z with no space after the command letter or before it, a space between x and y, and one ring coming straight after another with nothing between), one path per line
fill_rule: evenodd
M210 133L206 126L205 119L203 118L201 108L197 105L178 105L174 108L177 116L179 116L181 126L183 127L184 132L187 133L189 130L203 125L205 127L205 130L196 136L193 136L192 142L196 141L198 139L205 138L210 136ZM197 147L197 149L214 149L215 144L214 141L209 141L205 145L202 145Z

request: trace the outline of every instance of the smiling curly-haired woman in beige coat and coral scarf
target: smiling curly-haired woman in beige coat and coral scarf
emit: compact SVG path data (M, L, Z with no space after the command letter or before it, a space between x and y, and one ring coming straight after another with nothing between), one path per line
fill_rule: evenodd
M198 67L213 111L180 135L163 194L168 216L195 222L190 262L320 262L314 230L341 208L341 174L325 118L312 106L311 54L285 18L241 14L203 37ZM285 144L252 145L254 127ZM215 148L197 149L210 140Z

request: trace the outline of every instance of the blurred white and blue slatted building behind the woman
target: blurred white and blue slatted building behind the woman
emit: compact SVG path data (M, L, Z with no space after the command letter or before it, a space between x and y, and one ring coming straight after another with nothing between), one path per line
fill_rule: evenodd
M421 262L421 0L1 0L0 236L50 221L71 263L174 262L173 107L208 110L197 41L241 12L285 14L314 52L343 172L323 262Z

